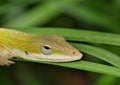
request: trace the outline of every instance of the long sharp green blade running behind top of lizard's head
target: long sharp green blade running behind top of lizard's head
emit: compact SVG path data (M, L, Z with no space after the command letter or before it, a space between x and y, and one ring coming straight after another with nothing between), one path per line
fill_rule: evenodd
M85 41L92 43L110 44L120 46L120 35L105 32L65 29L65 28L14 28L24 32L38 34L58 34L70 41Z

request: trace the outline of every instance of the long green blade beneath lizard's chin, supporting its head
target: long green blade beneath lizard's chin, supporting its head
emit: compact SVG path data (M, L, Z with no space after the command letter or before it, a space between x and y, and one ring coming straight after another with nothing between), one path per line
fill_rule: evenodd
M40 62L37 60L23 60L23 59L13 59L13 60L23 61L23 62L43 63L43 64L68 67L71 69L73 68L73 69L78 69L78 70L86 70L86 71L91 71L91 72L96 72L96 73L101 73L101 74L113 75L113 76L120 78L120 69L119 68L116 68L113 66L108 66L108 65L103 65L103 64L98 64L98 63L93 63L93 62L89 62L89 61L81 60L78 62L49 63L49 62Z

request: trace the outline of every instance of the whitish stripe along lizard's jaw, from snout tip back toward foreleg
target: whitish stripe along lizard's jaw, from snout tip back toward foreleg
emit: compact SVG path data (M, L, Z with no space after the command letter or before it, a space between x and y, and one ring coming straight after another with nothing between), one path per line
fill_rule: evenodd
M47 61L47 62L69 62L69 61L75 61L82 58L82 54L79 53L79 56L71 56L71 55L63 55L63 54L50 54L45 55L43 53L37 54L37 53L29 53L26 54L24 51L18 50L18 49L12 49L13 52L17 54L20 58L26 59L26 60L36 60L36 61Z

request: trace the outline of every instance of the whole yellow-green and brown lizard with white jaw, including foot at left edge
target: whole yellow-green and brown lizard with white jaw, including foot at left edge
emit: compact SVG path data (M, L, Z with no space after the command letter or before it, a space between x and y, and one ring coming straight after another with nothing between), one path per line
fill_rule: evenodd
M19 57L28 60L68 62L82 57L60 35L29 34L13 29L0 28L0 65L10 65L10 59Z

